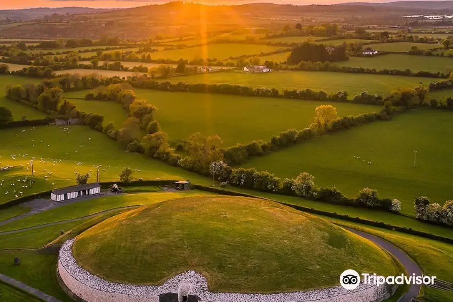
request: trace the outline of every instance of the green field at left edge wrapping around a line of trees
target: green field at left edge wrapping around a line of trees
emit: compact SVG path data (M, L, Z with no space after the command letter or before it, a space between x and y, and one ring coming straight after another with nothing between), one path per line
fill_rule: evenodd
M46 115L44 113L5 97L8 85L39 84L41 82L41 79L0 75L0 106L8 107L13 112L13 119L16 121L21 120L22 116L26 116L29 120L45 118Z

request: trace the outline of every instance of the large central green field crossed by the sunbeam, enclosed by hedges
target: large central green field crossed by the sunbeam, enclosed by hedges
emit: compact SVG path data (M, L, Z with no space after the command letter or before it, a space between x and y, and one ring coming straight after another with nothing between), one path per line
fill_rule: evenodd
M64 96L71 99L83 97L86 93L69 92ZM272 135L289 128L308 127L315 116L315 108L326 104L323 101L148 89L136 89L135 93L138 99L146 100L157 108L154 118L159 121L162 130L169 134L170 139L187 138L191 133L199 131L204 135L218 134L225 146L258 139L267 141ZM187 110L188 106L190 111ZM381 110L380 106L347 103L338 103L336 107L340 116ZM254 120L253 123L250 122L251 119Z

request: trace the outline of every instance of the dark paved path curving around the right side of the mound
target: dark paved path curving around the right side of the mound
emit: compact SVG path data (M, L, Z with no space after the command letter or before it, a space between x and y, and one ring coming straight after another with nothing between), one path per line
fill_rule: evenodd
M379 237L370 235L368 233L363 233L357 230L345 228L344 226L342 227L344 229L347 229L351 231L352 233L355 233L365 239L368 239L369 241L374 242L375 244L379 245L381 248L387 250L390 254L392 254L395 258L397 258L404 266L404 268L407 270L409 275L415 274L416 276L422 276L423 272L421 271L420 267L417 265L417 263L414 262L404 251L402 251L400 248L396 247L395 245L391 244L388 241L385 241ZM420 292L420 287L421 285L416 285L412 284L411 287L409 288L409 291L406 292L399 300L398 302L409 302L413 297L418 296Z

